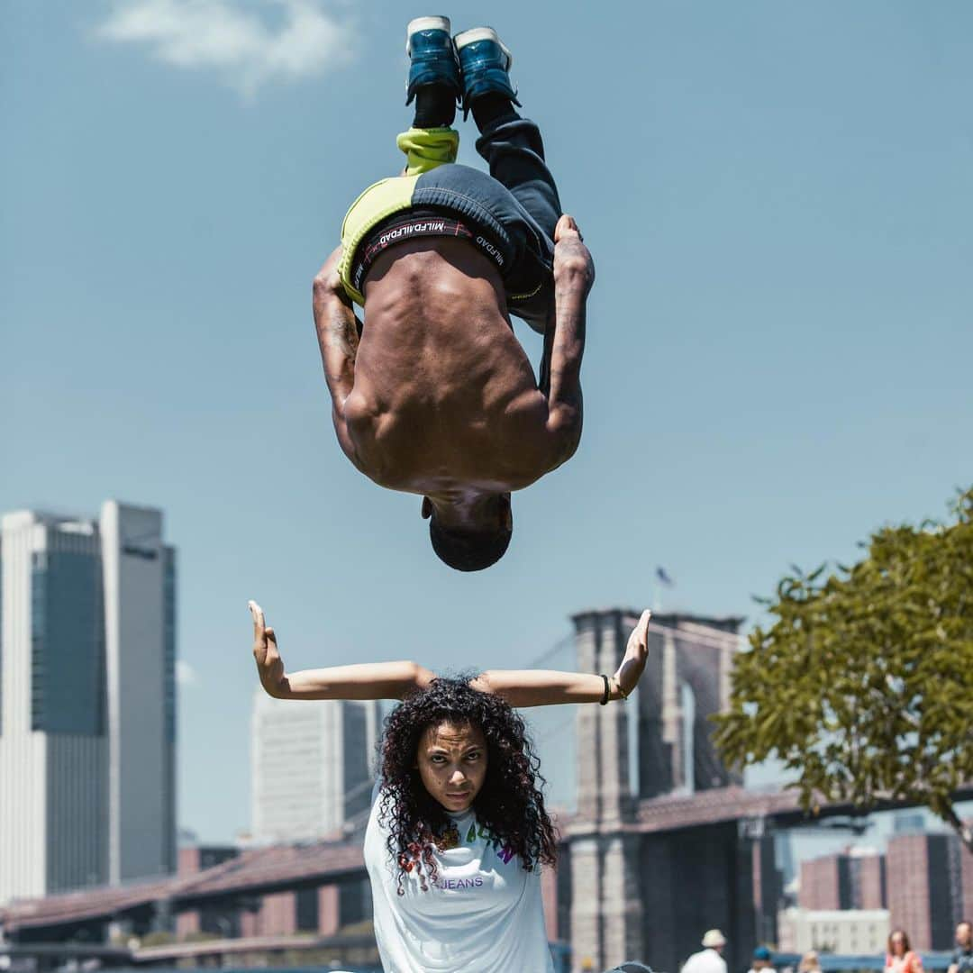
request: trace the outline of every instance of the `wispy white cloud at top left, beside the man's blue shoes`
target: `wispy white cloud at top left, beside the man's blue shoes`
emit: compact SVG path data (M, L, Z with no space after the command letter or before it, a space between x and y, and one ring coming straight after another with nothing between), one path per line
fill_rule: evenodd
M215 70L247 94L353 59L350 22L326 13L320 0L116 0L97 33L145 45L173 67Z

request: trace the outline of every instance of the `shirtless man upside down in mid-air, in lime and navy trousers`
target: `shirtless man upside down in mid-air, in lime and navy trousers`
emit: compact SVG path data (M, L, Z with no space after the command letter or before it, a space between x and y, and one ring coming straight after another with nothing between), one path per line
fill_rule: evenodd
M421 494L437 555L476 571L510 543L511 491L578 447L595 269L496 33L453 39L448 18L418 18L407 50L408 164L348 211L314 320L342 450L379 486ZM489 175L454 162L457 98ZM539 381L510 314L544 335Z

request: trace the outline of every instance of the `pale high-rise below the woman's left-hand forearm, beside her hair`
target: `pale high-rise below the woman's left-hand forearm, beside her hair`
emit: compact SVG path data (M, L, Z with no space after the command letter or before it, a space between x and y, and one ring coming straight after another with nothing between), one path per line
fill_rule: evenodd
M274 700L258 688L251 744L254 839L328 838L367 811L379 723L378 701Z

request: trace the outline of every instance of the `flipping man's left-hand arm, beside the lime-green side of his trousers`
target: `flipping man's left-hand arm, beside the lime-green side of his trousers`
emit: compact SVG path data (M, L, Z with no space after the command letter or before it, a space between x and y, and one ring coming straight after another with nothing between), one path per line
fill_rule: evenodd
M338 442L348 458L359 466L354 444L348 436L344 421L344 403L355 385L355 357L358 353L360 326L338 275L341 259L342 248L339 246L314 277L314 328L321 348L324 378L331 393L331 415L335 432L338 433Z

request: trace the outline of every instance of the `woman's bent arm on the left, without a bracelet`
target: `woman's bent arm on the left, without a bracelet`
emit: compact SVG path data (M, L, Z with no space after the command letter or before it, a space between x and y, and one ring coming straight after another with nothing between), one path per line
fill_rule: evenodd
M253 616L253 657L260 684L277 700L401 700L424 689L433 674L412 662L359 663L354 666L285 672L277 637L264 621L256 601L247 605Z

